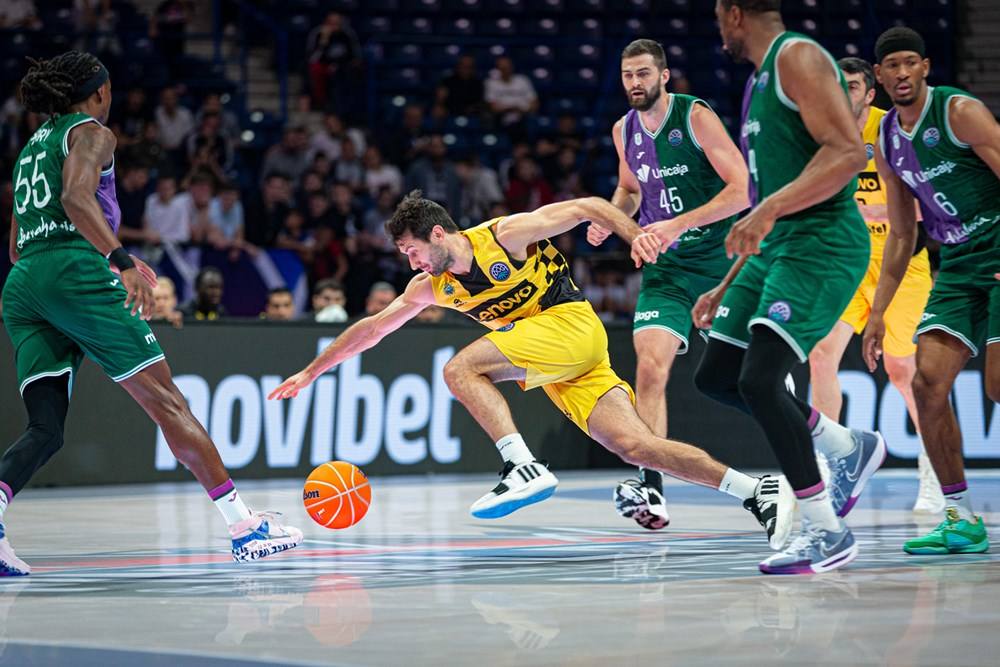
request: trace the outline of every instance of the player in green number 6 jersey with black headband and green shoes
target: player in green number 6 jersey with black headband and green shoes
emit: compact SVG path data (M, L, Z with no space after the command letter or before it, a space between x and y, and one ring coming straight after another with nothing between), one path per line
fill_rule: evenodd
M912 554L981 553L989 548L972 511L962 462L962 432L951 406L955 378L986 346L986 393L1000 401L1000 125L963 90L928 86L924 40L892 28L875 44L875 75L892 99L875 150L886 186L886 241L862 349L874 368L882 355L885 313L913 254L914 199L927 235L941 242L941 267L917 327L913 394L924 447L945 496L945 519L906 542Z

